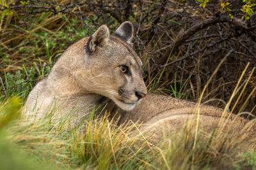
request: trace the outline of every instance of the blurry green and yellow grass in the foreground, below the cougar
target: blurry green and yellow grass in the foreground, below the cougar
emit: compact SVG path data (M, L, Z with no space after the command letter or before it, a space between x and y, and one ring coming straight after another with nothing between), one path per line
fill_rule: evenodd
M138 124L116 125L108 114L100 118L92 114L85 120L83 132L63 131L50 121L51 117L37 121L20 118L20 106L20 99L12 97L0 108L0 160L7 169L255 168L255 153L239 157L239 141L234 138L201 131L194 146L193 120L151 145L147 134L134 131ZM68 127L69 121L63 122L60 126Z

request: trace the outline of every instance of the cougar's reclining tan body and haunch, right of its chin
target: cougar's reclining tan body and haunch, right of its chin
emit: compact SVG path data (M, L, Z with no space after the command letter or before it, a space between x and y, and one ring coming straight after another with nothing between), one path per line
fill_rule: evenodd
M197 111L197 103L170 96L148 94L141 99L134 110L118 113L117 117L121 117L120 124L129 120L144 124L140 131L146 133L146 136L150 136L150 142L157 143L164 134L181 130L188 120L196 121ZM242 140L245 143L256 142L256 125L253 125L255 120L248 124L249 120L232 113L223 113L220 108L205 104L200 104L199 111L198 118L201 130L212 132L213 129L222 128L222 132L229 132L230 136L243 137ZM222 123L219 124L221 116ZM222 127L224 123L225 126Z

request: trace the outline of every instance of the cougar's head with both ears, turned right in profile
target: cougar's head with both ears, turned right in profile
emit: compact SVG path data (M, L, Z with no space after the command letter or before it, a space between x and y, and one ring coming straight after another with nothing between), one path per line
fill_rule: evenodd
M102 25L84 47L87 89L112 99L122 110L132 110L147 94L142 62L131 45L133 26L124 22L112 36Z

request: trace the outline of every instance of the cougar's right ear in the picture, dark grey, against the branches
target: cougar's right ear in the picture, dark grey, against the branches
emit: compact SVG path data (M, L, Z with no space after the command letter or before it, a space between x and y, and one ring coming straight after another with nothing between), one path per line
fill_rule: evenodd
M133 25L129 21L123 22L113 33L113 36L116 36L132 45Z

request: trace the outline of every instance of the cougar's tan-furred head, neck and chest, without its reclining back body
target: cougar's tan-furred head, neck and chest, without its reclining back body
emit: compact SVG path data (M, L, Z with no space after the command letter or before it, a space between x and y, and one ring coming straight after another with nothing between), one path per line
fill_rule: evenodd
M119 32L129 25L132 26L125 22ZM130 40L129 33L122 36ZM129 66L131 76L122 73L120 66ZM65 50L49 76L30 92L24 115L42 118L54 109L58 110L56 119L71 112L79 113L83 120L92 107L99 108L97 113L107 103L112 108L111 101L123 110L132 110L139 99L136 93L147 94L141 66L141 59L131 45L109 36L108 27L102 25L90 38L83 38Z

